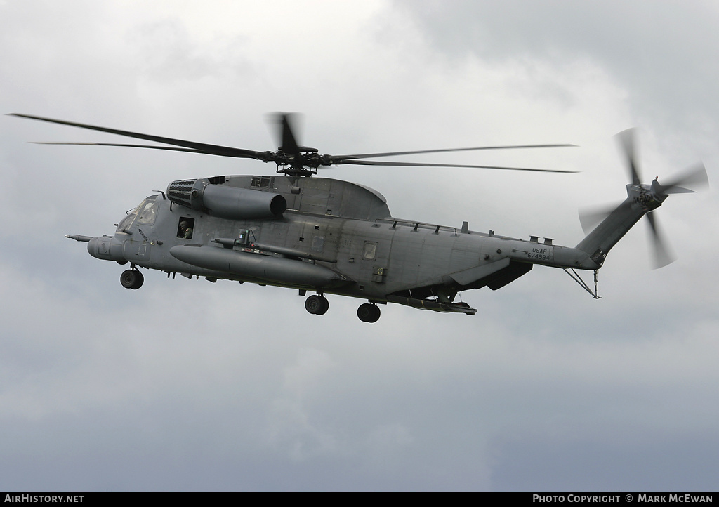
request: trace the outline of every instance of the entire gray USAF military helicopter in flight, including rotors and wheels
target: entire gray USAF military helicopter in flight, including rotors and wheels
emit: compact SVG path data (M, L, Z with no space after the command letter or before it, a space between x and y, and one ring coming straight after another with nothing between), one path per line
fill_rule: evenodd
M476 309L454 302L457 293L489 287L496 291L528 273L533 265L562 268L593 297L597 273L611 248L647 217L657 266L672 262L659 234L654 210L672 193L693 192L685 186L705 186L707 173L698 164L664 183L641 183L635 161L633 131L618 134L628 161L631 183L627 198L602 213L585 214L587 237L575 247L554 245L539 237L516 239L461 228L394 218L385 198L372 188L347 181L312 177L331 165L425 166L444 168L508 168L488 165L380 162L367 158L435 152L564 147L521 145L448 150L418 150L359 155L321 155L298 144L290 114L275 116L282 144L277 151L259 152L208 145L169 137L96 127L57 119L12 114L110 134L161 143L42 143L142 147L239 157L273 162L279 175L230 175L173 181L167 191L145 198L116 224L113 236L66 236L88 243L93 257L114 260L130 269L120 275L129 289L142 286L139 268L161 270L216 282L237 280L307 291L305 308L322 315L329 309L326 294L367 300L357 309L359 320L376 322L380 304L398 303L418 309L473 315ZM594 290L577 270L594 271Z

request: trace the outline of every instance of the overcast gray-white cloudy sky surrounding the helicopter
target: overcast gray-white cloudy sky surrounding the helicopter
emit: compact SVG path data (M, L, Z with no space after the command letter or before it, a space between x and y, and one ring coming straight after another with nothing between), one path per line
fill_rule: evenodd
M711 1L0 0L0 111L252 150L303 112L331 154L563 143L423 160L580 170L335 168L418 221L573 246L577 209L703 160L719 181ZM111 234L170 181L273 167L32 141L120 138L0 117L0 490L696 490L719 468L719 205L657 216L593 300L538 267L475 316L122 269Z

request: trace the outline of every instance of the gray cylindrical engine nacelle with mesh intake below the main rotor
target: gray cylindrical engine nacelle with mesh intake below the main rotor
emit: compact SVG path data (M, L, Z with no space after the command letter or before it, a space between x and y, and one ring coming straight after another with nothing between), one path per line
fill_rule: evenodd
M279 193L216 185L207 178L173 181L168 186L168 198L224 219L271 219L287 209L287 201Z

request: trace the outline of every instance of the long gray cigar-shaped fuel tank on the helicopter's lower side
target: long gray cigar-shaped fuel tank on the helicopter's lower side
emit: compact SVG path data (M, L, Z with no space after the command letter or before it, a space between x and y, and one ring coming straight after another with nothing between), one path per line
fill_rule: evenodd
M302 260L239 252L208 245L178 245L170 254L198 268L234 273L267 283L306 288L342 286L352 280L329 268Z

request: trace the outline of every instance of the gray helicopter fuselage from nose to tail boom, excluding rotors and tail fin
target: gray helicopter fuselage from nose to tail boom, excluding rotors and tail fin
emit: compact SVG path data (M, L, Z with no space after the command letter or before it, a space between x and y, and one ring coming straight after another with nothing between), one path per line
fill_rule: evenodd
M458 229L393 218L380 193L346 181L221 176L181 183L187 196L204 197L201 204L214 209L177 197L178 182L173 182L167 194L149 196L127 214L113 237L73 239L88 240L93 257L129 261L133 269L168 276L237 280L301 294L314 291L323 298L331 293L372 305L393 302L464 314L476 310L453 302L459 291L496 290L533 264L599 267L586 252L553 245L551 239L526 241L470 231L467 224ZM217 211L226 203L207 197L221 193L220 187L257 203L281 196L286 207L276 213L257 204L228 218L232 206Z

